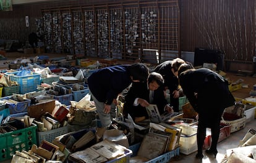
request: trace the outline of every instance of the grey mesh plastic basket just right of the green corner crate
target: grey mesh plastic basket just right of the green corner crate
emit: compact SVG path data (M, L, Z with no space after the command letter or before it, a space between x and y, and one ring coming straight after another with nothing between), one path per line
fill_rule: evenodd
M40 145L43 140L49 141L51 143L56 137L64 135L67 132L67 126L59 127L58 129L48 130L45 132L36 132L37 144Z

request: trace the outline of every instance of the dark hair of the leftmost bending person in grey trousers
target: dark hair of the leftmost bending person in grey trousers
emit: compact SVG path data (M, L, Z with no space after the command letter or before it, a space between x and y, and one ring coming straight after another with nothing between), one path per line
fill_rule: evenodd
M139 80L140 82L147 81L149 70L143 63L134 63L129 68L130 76L133 80Z

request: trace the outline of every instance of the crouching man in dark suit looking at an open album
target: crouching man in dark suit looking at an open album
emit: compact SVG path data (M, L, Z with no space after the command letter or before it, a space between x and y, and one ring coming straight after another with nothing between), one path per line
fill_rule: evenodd
M124 117L128 114L135 122L148 119L148 113L145 106L156 104L158 111L163 114L164 111L172 113L173 109L168 105L164 98L164 79L159 73L150 73L147 82L133 82L124 102Z

